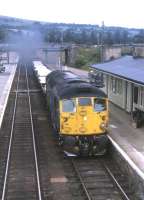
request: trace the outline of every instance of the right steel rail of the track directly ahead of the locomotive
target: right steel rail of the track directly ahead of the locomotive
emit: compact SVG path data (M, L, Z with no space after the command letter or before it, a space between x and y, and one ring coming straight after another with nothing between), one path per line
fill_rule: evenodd
M116 180L116 178L114 177L114 175L112 174L112 172L110 171L110 169L105 164L104 164L104 167L105 167L107 173L109 174L109 176L111 177L111 179L113 180L113 182L116 184L117 188L119 189L119 191L120 191L121 195L124 197L124 199L130 200L129 197L127 196L127 194L125 193L125 191L122 189L122 187Z

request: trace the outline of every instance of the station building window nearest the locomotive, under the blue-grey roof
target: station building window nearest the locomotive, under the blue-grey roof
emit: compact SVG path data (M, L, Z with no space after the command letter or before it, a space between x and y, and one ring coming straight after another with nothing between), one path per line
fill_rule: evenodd
M111 91L115 94L122 94L122 80L111 77Z

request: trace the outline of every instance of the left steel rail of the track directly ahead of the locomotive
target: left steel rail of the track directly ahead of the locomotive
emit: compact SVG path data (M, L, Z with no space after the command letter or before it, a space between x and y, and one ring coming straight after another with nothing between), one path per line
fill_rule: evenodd
M87 188L86 188L86 186L85 186L85 183L84 183L84 181L83 181L83 178L82 178L82 176L80 175L80 173L79 173L79 171L78 171L78 169L77 169L77 167L76 167L76 165L75 165L73 159L71 160L71 162L72 162L72 165L73 165L73 167L74 167L75 172L77 173L77 176L78 176L78 178L79 178L79 180L80 180L80 183L81 183L81 185L82 185L82 188L83 188L83 190L84 190L84 192L85 192L85 195L86 195L87 199L88 199L88 200L92 200L92 198L90 197L90 194L89 194L89 192L88 192L88 190L87 190Z

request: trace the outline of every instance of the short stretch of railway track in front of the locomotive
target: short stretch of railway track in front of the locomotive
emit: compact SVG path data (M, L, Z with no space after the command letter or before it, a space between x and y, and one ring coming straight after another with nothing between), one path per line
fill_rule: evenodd
M70 166L73 166L73 170ZM107 158L69 159L65 164L72 190L88 200L130 200L127 179ZM76 189L77 185L77 189ZM76 192L75 194L76 195ZM76 198L78 199L78 198Z

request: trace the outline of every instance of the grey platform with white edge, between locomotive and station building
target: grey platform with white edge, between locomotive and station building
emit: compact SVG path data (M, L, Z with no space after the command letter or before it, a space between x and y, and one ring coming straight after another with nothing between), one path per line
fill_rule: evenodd
M144 180L144 127L134 128L131 116L112 103L109 138Z

